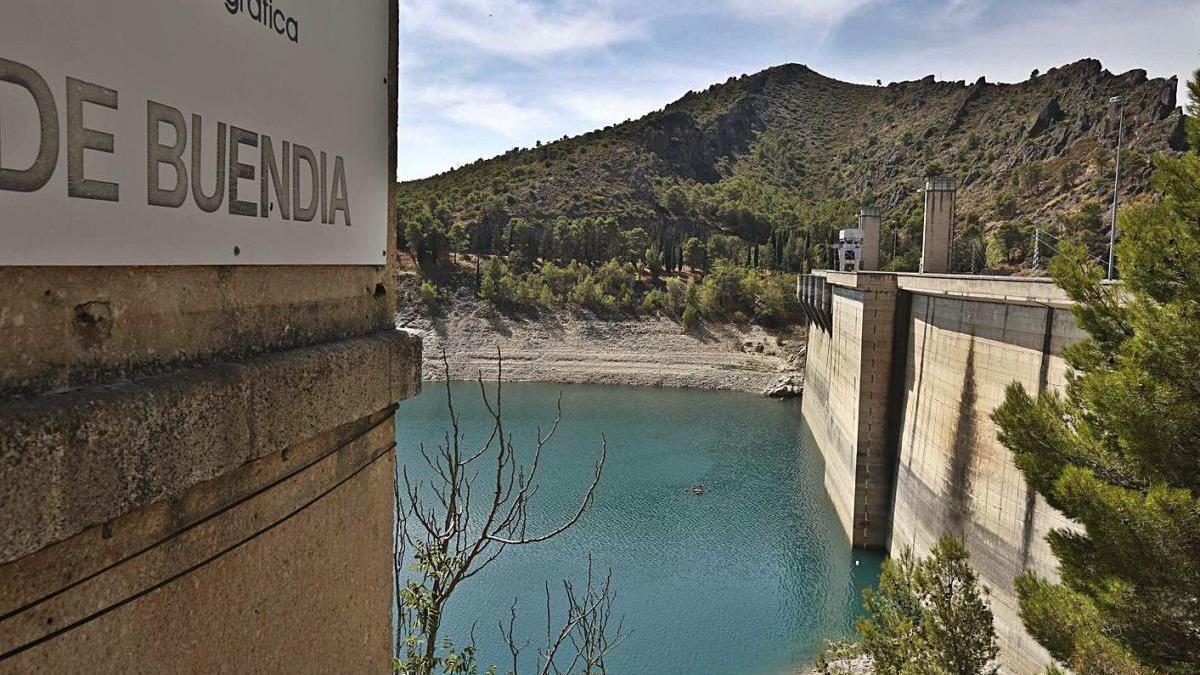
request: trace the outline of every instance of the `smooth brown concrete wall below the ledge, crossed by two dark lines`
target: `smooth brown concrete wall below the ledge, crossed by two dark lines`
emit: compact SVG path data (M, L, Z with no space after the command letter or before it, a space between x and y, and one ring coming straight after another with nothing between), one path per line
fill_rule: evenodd
M0 568L0 673L385 670L392 411Z

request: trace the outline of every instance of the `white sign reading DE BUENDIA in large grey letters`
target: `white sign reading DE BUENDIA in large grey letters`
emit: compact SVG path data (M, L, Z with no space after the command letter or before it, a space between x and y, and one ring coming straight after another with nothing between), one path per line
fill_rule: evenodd
M0 265L383 264L389 0L4 0Z

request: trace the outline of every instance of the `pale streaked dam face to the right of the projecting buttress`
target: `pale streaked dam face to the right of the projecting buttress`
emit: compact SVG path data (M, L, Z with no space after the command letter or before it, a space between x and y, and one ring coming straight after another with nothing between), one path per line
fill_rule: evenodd
M1010 382L1061 388L1062 347L1079 339L1067 309L916 295L912 299L893 548L918 554L950 532L992 590L1004 663L1039 673L1049 656L1024 631L1013 580L1055 578L1045 534L1070 527L1025 484L991 412Z

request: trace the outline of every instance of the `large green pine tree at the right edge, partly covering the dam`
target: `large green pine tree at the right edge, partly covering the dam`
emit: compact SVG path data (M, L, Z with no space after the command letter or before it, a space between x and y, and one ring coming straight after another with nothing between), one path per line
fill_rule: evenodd
M1200 106L1200 71L1189 83ZM1194 129L1194 127L1193 127ZM1120 287L1080 246L1051 274L1088 338L1062 394L1009 387L1001 441L1081 530L1061 583L1018 579L1026 627L1079 673L1200 673L1200 156L1156 160L1162 197L1126 209Z

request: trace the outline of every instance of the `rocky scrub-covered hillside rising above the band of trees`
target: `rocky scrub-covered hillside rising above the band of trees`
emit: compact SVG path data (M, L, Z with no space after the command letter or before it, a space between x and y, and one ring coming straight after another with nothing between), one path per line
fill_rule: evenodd
M994 265L1019 265L1033 225L1085 240L1106 227L1111 96L1126 101L1123 196L1146 191L1153 154L1184 145L1176 89L1175 78L1112 74L1096 60L1016 84L930 76L887 86L784 65L638 120L403 183L400 239L404 221L428 205L443 232L463 223L480 252L512 219L540 232L558 219L611 217L670 250L692 233L725 232L775 244L775 258L781 233L790 241L803 232L814 244L796 255L820 259L830 233L875 203L900 253L890 263L886 251L886 262L904 269L919 246L922 179L942 174L960 181L961 234L986 245Z

